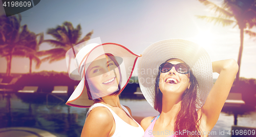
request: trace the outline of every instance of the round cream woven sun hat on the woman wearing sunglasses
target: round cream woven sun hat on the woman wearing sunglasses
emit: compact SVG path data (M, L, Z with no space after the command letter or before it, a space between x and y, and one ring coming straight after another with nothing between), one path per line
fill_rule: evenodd
M142 94L152 107L159 66L171 58L184 61L197 79L196 109L200 109L213 86L212 64L208 53L198 44L184 39L167 39L148 46L138 60L138 79Z

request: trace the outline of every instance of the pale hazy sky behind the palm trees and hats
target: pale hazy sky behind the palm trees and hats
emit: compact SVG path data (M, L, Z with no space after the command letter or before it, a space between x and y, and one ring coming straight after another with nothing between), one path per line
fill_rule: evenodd
M220 4L222 1L212 0ZM0 1L2 4L2 1ZM2 4L3 5L3 4ZM0 5L0 14L5 14ZM44 32L65 21L76 27L81 25L82 37L94 31L91 38L100 37L102 43L119 43L141 54L148 45L170 38L182 38L200 44L208 52L212 61L233 58L238 60L240 30L234 25L223 27L197 18L196 15L213 15L206 6L197 0L181 1L83 1L83 0L44 0L35 7L22 12L22 25L27 24L32 32ZM256 32L253 28L252 31ZM39 50L51 49L43 43ZM0 58L0 73L6 72L7 61ZM53 63L44 62L40 72L67 72L66 60ZM256 40L244 35L240 77L256 78ZM28 73L28 58L13 58L11 73ZM136 71L133 74L136 76ZM215 78L218 75L214 75Z

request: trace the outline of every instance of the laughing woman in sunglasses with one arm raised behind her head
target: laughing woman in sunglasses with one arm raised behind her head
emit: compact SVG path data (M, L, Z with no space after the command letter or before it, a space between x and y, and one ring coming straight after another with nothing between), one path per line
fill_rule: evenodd
M212 72L220 74L214 85ZM139 84L160 115L141 121L144 136L208 136L237 72L233 59L211 62L203 48L187 40L147 47L138 62Z

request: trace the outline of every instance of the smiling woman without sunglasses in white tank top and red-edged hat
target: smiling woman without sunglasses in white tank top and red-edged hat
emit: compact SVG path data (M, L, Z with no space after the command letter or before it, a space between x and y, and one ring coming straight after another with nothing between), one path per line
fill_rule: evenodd
M67 105L90 107L81 136L143 136L118 95L129 82L139 55L116 43L88 44L76 55L81 81Z

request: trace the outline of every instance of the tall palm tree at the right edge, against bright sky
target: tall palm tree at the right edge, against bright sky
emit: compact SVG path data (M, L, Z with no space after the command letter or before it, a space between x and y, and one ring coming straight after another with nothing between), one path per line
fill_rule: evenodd
M238 85L240 64L243 52L244 32L249 34L250 36L256 36L255 32L245 30L251 29L252 27L256 26L256 1L224 0L221 7L207 0L199 0L199 2L205 6L208 6L217 15L217 17L198 16L199 18L206 19L209 22L214 21L215 24L219 23L223 26L238 26L240 29L240 49L238 55L239 71L236 76L236 85Z

